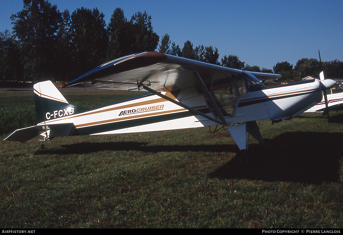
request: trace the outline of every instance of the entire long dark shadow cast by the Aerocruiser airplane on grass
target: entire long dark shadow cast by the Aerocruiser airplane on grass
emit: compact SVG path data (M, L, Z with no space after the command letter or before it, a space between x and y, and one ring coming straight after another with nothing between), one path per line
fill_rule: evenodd
M270 148L251 144L248 164L239 162L236 145L155 145L144 142L77 143L35 154L88 154L104 150L142 152L236 152L210 173L222 179L249 179L320 184L340 181L343 133L286 132L268 140Z

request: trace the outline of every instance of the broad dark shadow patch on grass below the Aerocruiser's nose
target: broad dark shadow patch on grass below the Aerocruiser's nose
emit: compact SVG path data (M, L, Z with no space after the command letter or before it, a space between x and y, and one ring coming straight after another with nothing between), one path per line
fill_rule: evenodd
M340 181L343 133L287 132L270 140L270 149L249 146L250 160L239 154L210 176L320 184Z

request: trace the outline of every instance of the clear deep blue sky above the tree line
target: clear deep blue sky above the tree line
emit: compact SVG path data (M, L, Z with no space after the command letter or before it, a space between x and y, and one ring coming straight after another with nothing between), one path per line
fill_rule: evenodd
M343 1L191 1L191 0L49 0L62 12L97 8L108 24L114 9L125 17L146 11L160 40L166 33L182 48L218 48L219 61L234 54L250 66L273 69L277 62L293 66L301 58L343 61ZM0 32L12 30L10 16L23 9L22 0L0 0Z

